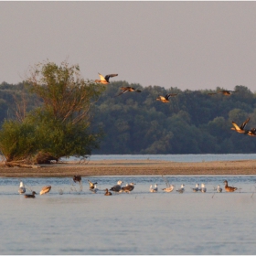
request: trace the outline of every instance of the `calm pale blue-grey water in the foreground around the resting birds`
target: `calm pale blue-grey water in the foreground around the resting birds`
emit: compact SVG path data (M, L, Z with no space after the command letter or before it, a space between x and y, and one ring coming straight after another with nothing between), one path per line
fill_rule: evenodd
M52 186L33 199L17 194L16 178L1 178L1 254L255 254L256 176L168 176L176 188L185 184L184 194L162 191L161 176L89 178L100 189L119 179L136 185L104 197L91 194L87 177L82 192L71 177L24 178L37 193ZM224 179L241 189L216 193ZM149 193L155 183L159 191ZM192 192L196 183L208 192Z

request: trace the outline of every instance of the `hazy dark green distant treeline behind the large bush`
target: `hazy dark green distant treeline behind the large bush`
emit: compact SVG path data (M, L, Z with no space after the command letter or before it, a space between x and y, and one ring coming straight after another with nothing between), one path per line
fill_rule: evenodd
M121 87L126 92L114 97ZM142 87L126 81L106 85L106 91L92 110L92 128L105 133L101 149L93 154L246 154L256 153L256 137L230 130L248 117L247 129L256 127L256 94L245 86L215 90L181 91L160 86ZM230 96L208 95L219 90L238 91ZM156 101L158 95L178 93L170 101ZM15 118L16 102L26 94L23 83L0 84L0 122ZM40 104L27 99L27 110ZM18 106L22 107L22 104Z

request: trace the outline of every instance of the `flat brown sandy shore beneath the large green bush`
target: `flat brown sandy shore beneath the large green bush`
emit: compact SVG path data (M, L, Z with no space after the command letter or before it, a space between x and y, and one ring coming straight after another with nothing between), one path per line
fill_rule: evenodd
M1 177L154 175L256 175L256 160L178 163L156 160L101 160L79 164L41 165L39 168L0 165Z

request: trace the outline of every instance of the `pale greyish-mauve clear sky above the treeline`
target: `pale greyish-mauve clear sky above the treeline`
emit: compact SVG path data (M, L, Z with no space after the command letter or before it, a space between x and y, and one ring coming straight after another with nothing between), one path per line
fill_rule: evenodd
M0 83L49 60L84 79L256 91L256 2L0 2Z

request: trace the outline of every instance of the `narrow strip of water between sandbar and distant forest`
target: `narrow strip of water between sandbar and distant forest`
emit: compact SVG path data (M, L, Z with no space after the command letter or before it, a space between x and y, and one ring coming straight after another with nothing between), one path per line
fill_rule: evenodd
M69 157L68 160L78 159ZM208 162L255 160L256 154L205 154L205 155L91 155L91 160L163 160L172 162ZM64 158L64 160L67 160Z

